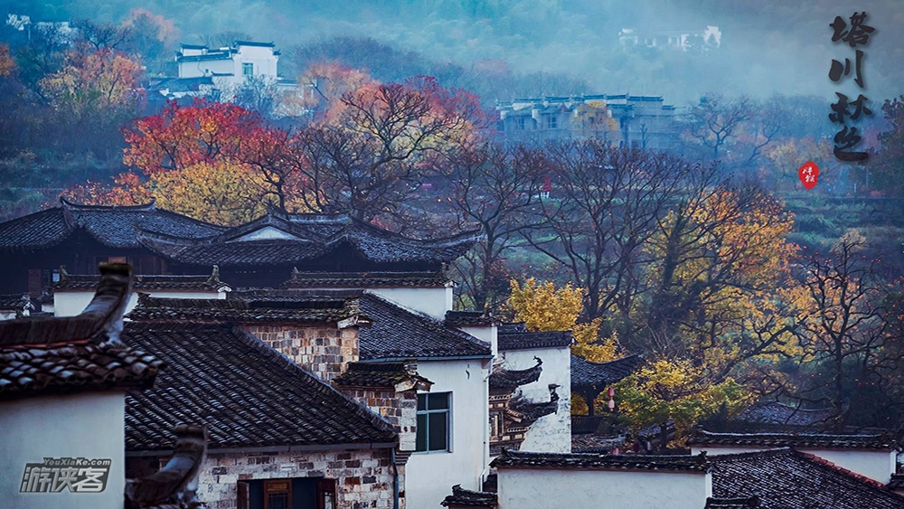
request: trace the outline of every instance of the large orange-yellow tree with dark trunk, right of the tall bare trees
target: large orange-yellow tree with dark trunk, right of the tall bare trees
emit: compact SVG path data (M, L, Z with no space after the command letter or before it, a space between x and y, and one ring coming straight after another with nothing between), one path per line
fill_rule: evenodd
M753 358L791 356L791 215L757 189L701 187L658 225L645 343L701 359L717 379Z

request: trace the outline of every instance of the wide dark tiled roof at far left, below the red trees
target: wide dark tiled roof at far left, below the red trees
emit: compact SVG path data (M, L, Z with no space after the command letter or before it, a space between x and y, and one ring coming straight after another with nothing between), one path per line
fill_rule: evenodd
M76 231L84 231L110 247L137 248L140 247L137 229L194 239L223 231L220 226L157 209L153 203L108 207L63 201L60 207L0 223L0 250L48 248L68 239Z

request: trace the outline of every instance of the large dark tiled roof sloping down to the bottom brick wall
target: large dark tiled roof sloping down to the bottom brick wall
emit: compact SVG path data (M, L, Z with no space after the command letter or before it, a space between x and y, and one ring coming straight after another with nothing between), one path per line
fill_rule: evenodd
M391 425L230 325L127 323L123 340L169 369L129 391L127 450L165 450L176 424L206 425L209 448L395 442Z

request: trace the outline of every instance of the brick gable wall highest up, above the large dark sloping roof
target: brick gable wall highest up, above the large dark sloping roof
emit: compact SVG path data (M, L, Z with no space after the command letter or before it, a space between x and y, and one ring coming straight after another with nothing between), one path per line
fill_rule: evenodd
M358 361L358 329L325 326L244 325L245 330L330 382Z

